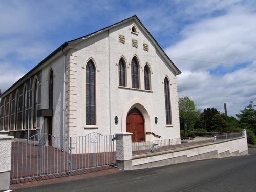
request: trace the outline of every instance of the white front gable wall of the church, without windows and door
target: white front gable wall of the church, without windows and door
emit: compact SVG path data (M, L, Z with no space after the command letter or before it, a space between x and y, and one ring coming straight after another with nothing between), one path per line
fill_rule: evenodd
M145 109L145 132L154 132L161 136L161 139L179 138L180 127L178 119L178 95L177 82L174 71L167 62L160 58L159 52L155 49L153 42L146 37L146 34L139 28L138 35L131 33L130 27L134 20L124 23L109 31L97 34L75 45L77 59L77 102L76 115L77 127L75 132L78 136L91 132L98 132L102 135L113 135L126 131L126 116L134 104L139 103L141 109ZM125 44L119 42L119 35L125 36ZM138 41L138 48L132 46L132 39ZM143 43L149 45L149 51L143 50ZM140 89L131 88L131 67L129 63L136 55L139 60ZM118 87L118 61L123 57L126 61L127 87ZM85 104L84 104L84 74L87 61L92 58L96 65L96 86L97 86L97 124L96 126L85 126ZM145 63L151 69L151 90L144 90ZM110 74L110 76L109 76ZM170 95L172 107L172 126L166 126L165 101L163 80L168 76L170 80ZM142 111L141 111L142 112ZM114 122L118 116L119 122ZM158 123L155 124L155 117ZM158 138L149 135L146 140L157 140Z

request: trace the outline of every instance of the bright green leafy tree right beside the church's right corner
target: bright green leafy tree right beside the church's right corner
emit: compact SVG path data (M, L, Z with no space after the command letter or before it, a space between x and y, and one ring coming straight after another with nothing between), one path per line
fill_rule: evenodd
M193 100L189 97L179 98L180 127L184 130L185 124L188 130L193 129L196 122L197 109Z

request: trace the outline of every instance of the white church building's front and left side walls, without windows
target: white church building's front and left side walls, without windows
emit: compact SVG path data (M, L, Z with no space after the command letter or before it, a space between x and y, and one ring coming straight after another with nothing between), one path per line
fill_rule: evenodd
M119 85L120 59L125 66L125 84L122 86ZM132 87L132 59L135 59L138 65L139 88ZM95 123L89 125L86 123L88 61L92 62L95 68ZM149 90L145 89L145 66L148 70ZM126 132L127 115L131 109L136 108L143 119L145 141L157 140L159 136L161 139L180 137L176 75L181 72L136 16L88 36L66 42L39 63L27 74L30 78L23 77L0 96L2 98L0 129L2 126L2 130L26 132L26 127L15 126L13 120L15 112L11 109L6 111L9 105L7 106L4 100L5 98L8 100L10 95L14 98L15 91L22 89L30 79L32 81L35 77L38 79L37 109L49 109L51 70L54 88L52 108L54 136L84 136L91 132L114 135ZM169 83L171 123L166 123L165 82ZM33 86L28 90L33 93ZM33 103L33 94L31 95L30 101ZM32 114L33 106L29 106L29 109ZM13 114L13 118L11 119L11 115L9 117L7 114ZM114 120L116 116L118 123ZM20 121L23 120L22 117ZM157 123L155 117L158 119ZM38 116L36 127L31 127L32 119L27 119L30 122L28 123L30 131L48 132L49 117Z

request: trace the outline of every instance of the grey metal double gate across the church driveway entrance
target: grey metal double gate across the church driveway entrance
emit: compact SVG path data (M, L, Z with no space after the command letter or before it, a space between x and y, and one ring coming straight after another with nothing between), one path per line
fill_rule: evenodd
M58 138L36 134L12 142L11 180L53 175L115 164L114 136L90 133Z

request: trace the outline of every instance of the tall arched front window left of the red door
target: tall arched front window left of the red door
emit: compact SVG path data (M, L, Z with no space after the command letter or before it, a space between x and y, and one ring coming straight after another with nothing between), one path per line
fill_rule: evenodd
M95 67L92 60L86 65L86 125L96 124Z

